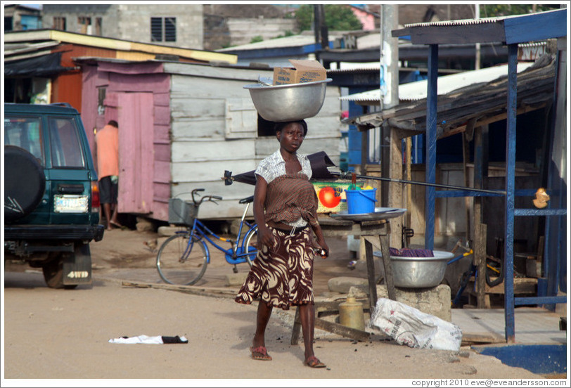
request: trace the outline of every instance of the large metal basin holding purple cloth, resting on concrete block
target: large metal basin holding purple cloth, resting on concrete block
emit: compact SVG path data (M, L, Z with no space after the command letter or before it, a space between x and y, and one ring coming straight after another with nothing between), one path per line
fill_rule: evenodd
M436 287L444 279L448 261L454 257L451 252L433 250L433 257L391 256L394 287L423 288ZM373 256L383 257L380 251Z

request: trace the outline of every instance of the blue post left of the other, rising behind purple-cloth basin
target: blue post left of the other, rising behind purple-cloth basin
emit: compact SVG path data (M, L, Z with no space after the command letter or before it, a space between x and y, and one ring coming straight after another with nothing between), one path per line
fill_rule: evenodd
M425 181L436 183L436 108L438 96L438 45L431 44L428 53L428 91L426 96L426 172ZM425 187L424 198L424 245L434 249L435 188Z

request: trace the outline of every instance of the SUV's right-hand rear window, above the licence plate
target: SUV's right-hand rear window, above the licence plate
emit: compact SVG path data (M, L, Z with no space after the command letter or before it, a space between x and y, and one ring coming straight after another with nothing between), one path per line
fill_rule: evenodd
M82 146L73 119L51 117L49 136L53 167L84 167Z

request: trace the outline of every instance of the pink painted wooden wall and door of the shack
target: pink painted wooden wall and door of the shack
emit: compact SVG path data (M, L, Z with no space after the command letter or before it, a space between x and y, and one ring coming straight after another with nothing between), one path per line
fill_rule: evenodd
M120 128L120 212L167 221L170 198L170 77L161 63L83 65L82 119L93 148L93 129L109 119ZM98 89L105 88L105 112ZM102 114L103 113L103 114ZM94 155L94 158L96 155ZM122 183L124 183L122 185ZM123 186L123 187L122 187Z

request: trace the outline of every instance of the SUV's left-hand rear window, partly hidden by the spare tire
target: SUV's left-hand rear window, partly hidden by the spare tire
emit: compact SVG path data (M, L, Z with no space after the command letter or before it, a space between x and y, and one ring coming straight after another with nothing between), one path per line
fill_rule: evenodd
M24 148L45 165L39 117L4 117L4 144Z

